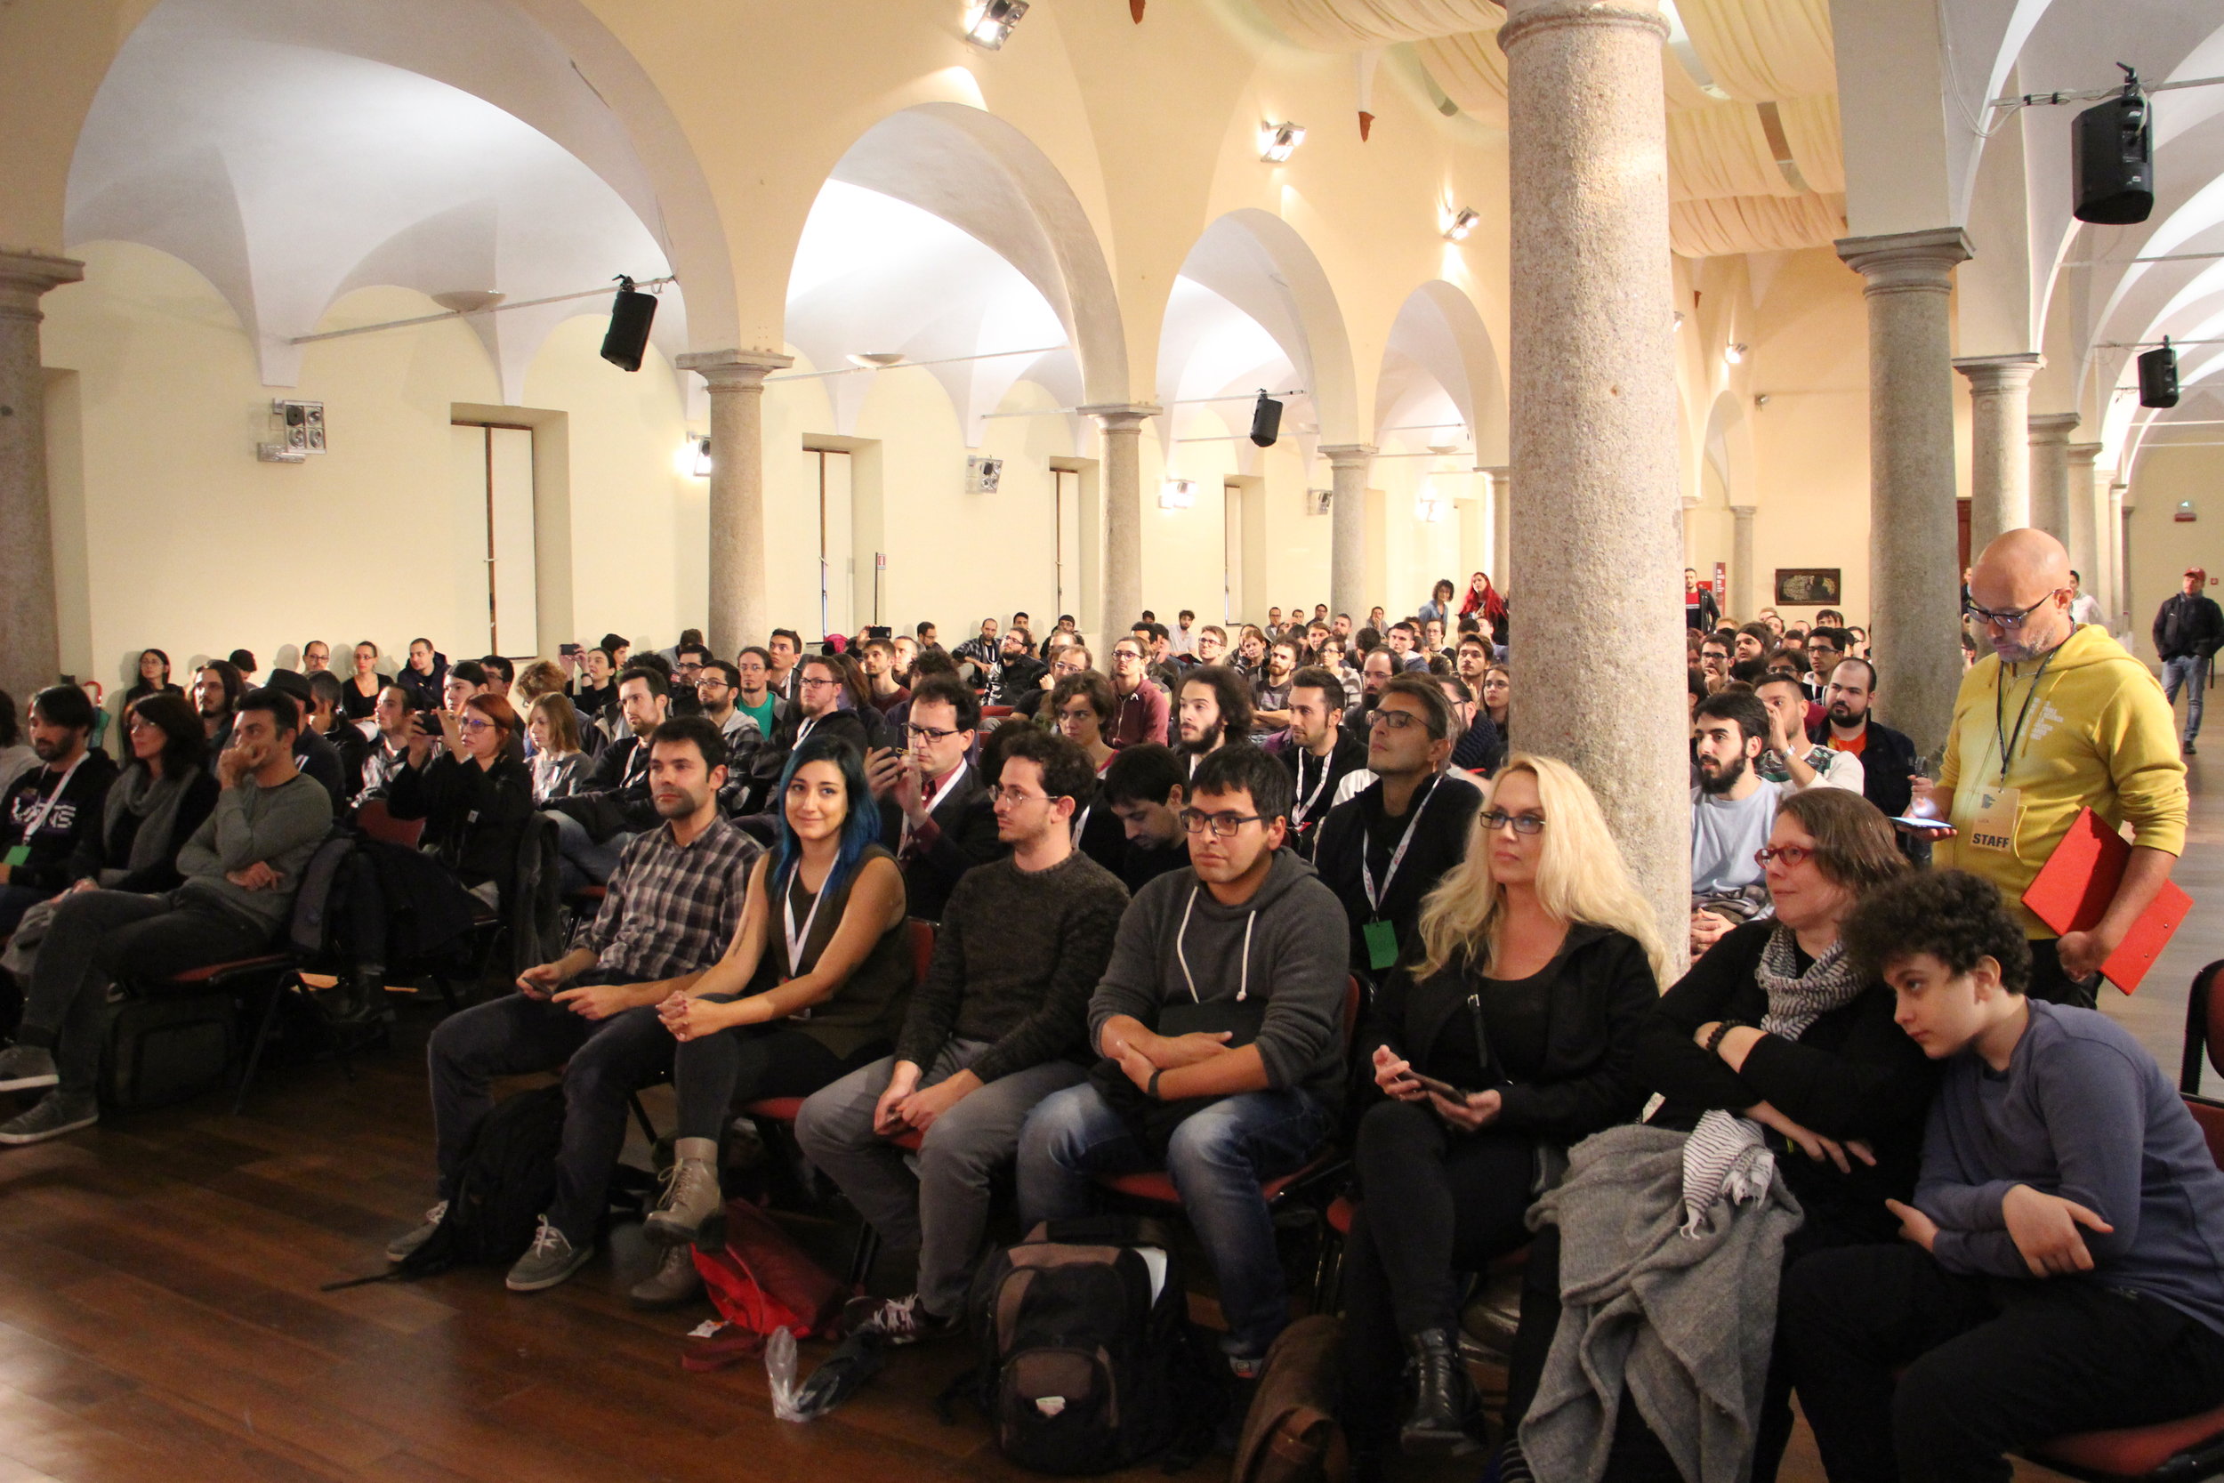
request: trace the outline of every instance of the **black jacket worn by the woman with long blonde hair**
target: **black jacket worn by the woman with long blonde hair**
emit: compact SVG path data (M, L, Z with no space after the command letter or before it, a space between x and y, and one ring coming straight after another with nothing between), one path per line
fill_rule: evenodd
M1503 1109L1497 1127L1552 1143L1579 1143L1644 1109L1646 1089L1635 1069L1637 1036L1659 1003L1659 983L1637 938L1586 923L1568 929L1550 969L1555 978L1543 1067L1535 1081L1499 1083ZM1390 974L1359 1027L1359 1074L1368 1085L1374 1085L1377 1045L1412 1061L1423 1076L1432 1074L1430 1049L1446 1021L1466 1012L1475 989L1475 972L1466 965L1450 965L1428 978L1414 978L1410 967Z

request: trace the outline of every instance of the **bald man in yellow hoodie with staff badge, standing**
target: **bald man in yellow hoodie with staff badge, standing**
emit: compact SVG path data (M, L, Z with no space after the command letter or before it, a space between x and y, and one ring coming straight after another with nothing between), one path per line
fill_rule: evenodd
M1988 878L2031 938L2031 994L2091 1007L2095 974L2186 847L2186 765L2155 676L2099 625L2071 618L2071 558L2037 529L2008 531L1968 578L1973 618L1993 654L1962 676L1935 785L1913 812L1955 834L1937 865ZM2131 865L2108 912L2062 938L2022 894L2091 807L2131 825Z

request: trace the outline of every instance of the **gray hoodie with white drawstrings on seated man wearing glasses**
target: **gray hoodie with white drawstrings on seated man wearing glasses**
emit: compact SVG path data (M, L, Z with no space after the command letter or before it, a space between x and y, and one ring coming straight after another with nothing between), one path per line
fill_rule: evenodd
M1188 927L1183 927L1188 918ZM1312 865L1274 852L1265 880L1241 907L1223 907L1192 869L1174 869L1128 903L1112 963L1090 996L1090 1043L1114 1014L1159 1023L1190 1001L1265 1003L1259 1058L1268 1085L1303 1087L1343 1103L1343 998L1350 981L1343 907Z

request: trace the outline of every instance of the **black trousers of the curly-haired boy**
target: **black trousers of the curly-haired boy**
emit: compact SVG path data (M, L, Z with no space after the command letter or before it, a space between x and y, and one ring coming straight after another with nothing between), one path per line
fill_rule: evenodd
M1781 1314L1830 1483L2008 1479L2010 1447L2224 1401L2224 1334L2097 1276L1953 1276L1915 1245L1841 1247L1786 1272Z

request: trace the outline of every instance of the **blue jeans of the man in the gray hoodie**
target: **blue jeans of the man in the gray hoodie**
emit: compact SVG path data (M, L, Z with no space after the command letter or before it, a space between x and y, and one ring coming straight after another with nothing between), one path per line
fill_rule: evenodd
M1328 1109L1310 1092L1243 1092L1190 1114L1165 1149L1181 1210L1212 1258L1232 1358L1263 1358L1290 1323L1290 1294L1274 1256L1274 1221L1259 1181L1299 1167L1328 1136ZM1036 1221L1083 1216L1096 1174L1152 1167L1143 1141L1096 1087L1045 1096L1019 1134L1019 1214Z

